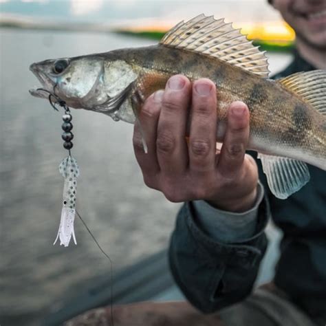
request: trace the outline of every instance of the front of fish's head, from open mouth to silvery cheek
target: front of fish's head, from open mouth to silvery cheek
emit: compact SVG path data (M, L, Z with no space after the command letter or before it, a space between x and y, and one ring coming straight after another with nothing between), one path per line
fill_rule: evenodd
M41 82L38 89L30 89L30 94L38 98L49 98L49 92L64 100L69 107L89 109L101 101L98 85L102 78L102 60L95 56L58 58L33 63L30 70ZM45 91L44 91L45 90ZM52 98L56 102L55 98Z

